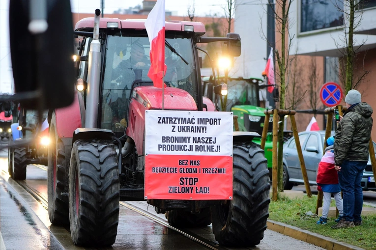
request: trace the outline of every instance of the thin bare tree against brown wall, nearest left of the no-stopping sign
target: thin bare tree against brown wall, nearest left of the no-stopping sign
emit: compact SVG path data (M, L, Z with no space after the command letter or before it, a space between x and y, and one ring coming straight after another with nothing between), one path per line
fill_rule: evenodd
M311 107L314 116L316 118L316 114L318 111L318 105L320 101L319 97L319 90L322 85L322 75L321 72L318 71L317 65L317 57L311 56L311 60L308 64L309 68L309 75L308 75L308 83L309 83L309 95L308 95L308 106Z

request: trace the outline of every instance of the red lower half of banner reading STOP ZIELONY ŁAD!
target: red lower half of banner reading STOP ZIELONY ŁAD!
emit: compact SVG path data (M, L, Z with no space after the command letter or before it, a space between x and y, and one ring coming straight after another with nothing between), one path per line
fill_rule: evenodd
M160 155L148 155L145 166L147 198L207 200L232 196L231 156L171 155L166 161Z

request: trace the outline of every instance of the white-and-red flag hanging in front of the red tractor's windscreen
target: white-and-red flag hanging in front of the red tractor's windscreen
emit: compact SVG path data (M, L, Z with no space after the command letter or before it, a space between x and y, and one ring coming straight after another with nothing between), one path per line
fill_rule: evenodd
M157 0L145 22L150 42L150 69L147 76L154 86L162 88L165 72L165 0Z

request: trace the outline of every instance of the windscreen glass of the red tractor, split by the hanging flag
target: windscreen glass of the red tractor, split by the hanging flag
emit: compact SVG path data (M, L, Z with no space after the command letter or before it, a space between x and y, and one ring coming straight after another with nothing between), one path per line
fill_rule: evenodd
M192 40L175 36L166 40L188 62L165 47L167 66L164 81L167 86L180 88L197 101L197 77ZM136 80L151 81L150 44L147 37L108 36L105 55L105 72L102 87L101 128L114 132L124 131L132 83Z

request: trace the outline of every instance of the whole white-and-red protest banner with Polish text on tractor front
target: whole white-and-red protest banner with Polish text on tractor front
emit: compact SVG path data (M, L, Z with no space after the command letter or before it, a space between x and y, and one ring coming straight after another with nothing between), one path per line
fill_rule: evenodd
M232 199L232 122L231 112L146 111L145 199Z

